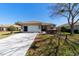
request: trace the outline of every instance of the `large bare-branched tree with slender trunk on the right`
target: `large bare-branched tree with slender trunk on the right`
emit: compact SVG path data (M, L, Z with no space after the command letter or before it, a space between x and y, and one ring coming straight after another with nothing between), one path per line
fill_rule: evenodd
M74 25L79 21L79 4L62 3L51 6L51 16L63 16L67 19L71 29L71 35L74 34Z

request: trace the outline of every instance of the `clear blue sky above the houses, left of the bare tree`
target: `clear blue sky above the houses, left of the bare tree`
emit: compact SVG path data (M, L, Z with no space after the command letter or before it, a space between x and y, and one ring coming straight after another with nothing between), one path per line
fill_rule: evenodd
M65 18L51 18L46 3L7 3L0 4L0 24L14 24L15 22L41 21L61 25Z

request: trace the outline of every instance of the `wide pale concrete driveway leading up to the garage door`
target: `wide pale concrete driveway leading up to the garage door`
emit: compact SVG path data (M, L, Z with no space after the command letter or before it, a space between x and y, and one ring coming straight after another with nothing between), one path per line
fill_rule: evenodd
M19 33L0 39L0 56L24 56L37 33Z

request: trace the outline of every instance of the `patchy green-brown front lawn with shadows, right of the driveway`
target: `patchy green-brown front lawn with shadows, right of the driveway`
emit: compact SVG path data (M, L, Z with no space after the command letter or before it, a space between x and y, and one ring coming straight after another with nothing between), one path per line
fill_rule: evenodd
M65 33L69 34L69 33ZM54 35L38 35L27 56L74 56L79 55L79 34L68 35L68 39L58 39Z

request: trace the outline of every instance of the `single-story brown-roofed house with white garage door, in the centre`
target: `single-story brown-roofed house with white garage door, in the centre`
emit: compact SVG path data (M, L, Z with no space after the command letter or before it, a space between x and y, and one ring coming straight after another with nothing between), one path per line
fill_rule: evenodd
M56 30L55 24L44 23L39 21L18 22L17 25L21 26L22 32L43 32L47 30Z

